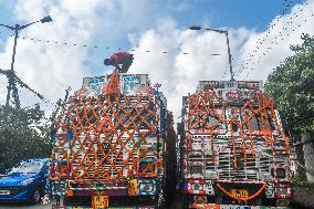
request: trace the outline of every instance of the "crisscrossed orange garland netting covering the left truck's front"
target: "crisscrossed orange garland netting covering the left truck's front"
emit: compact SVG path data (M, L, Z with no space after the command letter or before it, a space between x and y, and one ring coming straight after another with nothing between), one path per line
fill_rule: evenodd
M163 169L163 158L158 156L160 151L153 150L153 145L147 144L146 137L160 134L158 105L150 94L119 94L117 71L113 72L104 94L97 97L72 96L66 108L59 114L55 126L55 147L65 148L69 138L64 133L69 128L72 130L70 155L56 151L59 156L52 156L66 161L67 166L54 164L50 179L88 182L92 178L115 180L133 178L134 175L157 176ZM148 159L148 155L156 160L146 160L139 173L139 161ZM69 187L70 184L67 190L71 192Z

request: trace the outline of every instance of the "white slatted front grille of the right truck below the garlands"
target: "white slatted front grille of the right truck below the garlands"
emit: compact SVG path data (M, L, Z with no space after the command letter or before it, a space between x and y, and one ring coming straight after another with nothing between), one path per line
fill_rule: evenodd
M242 139L234 139L237 168L230 138L213 138L213 140L212 150L209 139L203 137L203 142L201 142L198 136L192 136L191 144L188 146L191 149L187 149L188 175L190 177L196 177L196 169L192 169L191 166L202 165L201 168L198 167L197 173L203 174L206 178L245 180L272 178L273 156L270 146L265 147L262 138L254 138L254 156L249 147L250 140L245 142L248 146L247 165L242 150Z

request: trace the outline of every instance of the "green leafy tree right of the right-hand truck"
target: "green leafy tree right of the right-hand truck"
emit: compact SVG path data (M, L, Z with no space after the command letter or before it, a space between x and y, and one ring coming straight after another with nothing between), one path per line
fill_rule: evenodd
M269 75L265 90L275 98L291 133L314 130L314 36L303 34L296 52Z

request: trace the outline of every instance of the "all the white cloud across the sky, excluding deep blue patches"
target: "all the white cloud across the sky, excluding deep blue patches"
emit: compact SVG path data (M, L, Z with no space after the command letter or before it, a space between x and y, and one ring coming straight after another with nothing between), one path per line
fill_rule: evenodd
M121 44L122 40L128 38L130 45L136 49L130 73L148 73L153 84L161 83L169 108L179 116L181 96L195 92L199 80L229 80L228 54L223 34L181 30L171 13L167 13L167 7L169 4L164 1L146 0L20 0L14 12L21 21L30 22L46 14L53 18L51 23L39 23L25 29L23 35L59 42L97 44L100 49L93 51L96 53L93 55L91 51L82 48L63 46L61 43L36 44L19 39L17 73L34 90L55 101L63 97L67 85L78 88L83 76L90 72L93 72L93 75L100 73L103 66L95 72L88 69L86 61L94 59L94 62L102 63L102 59L108 55L105 54L108 53L105 46ZM186 4L178 9L184 11ZM308 0L307 4L295 6L291 13L274 17L275 27L270 32L257 32L247 28L229 29L236 72L241 71L240 64L245 63L249 52L255 50L258 40L268 35L239 77L265 80L274 66L292 54L289 45L300 43L301 33L314 33L311 17L313 10L314 0ZM295 17L295 13L299 15ZM210 27L210 19L203 22L203 25ZM1 69L10 67L12 44L10 39L6 52L0 54L0 60L7 61L1 63ZM147 50L150 52L146 52ZM163 53L164 51L168 53ZM221 55L212 56L213 53ZM259 60L262 53L265 55ZM98 60L95 61L95 56ZM1 85L2 104L6 92L6 86ZM29 102L34 100L30 98L29 94L24 97L24 101Z

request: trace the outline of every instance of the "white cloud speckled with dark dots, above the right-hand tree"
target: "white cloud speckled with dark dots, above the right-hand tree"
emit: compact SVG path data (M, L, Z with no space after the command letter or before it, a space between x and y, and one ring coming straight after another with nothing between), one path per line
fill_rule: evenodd
M283 17L275 17L269 30L252 33L241 48L239 61L247 63L245 59L250 58L250 52L254 56L249 60L239 77L266 80L280 62L294 54L290 50L290 45L301 43L302 33L314 34L313 13L314 0L308 0L303 4L294 6L291 12ZM259 39L262 44L257 44L257 42L260 42ZM257 50L257 46L259 48L258 51L252 53Z

